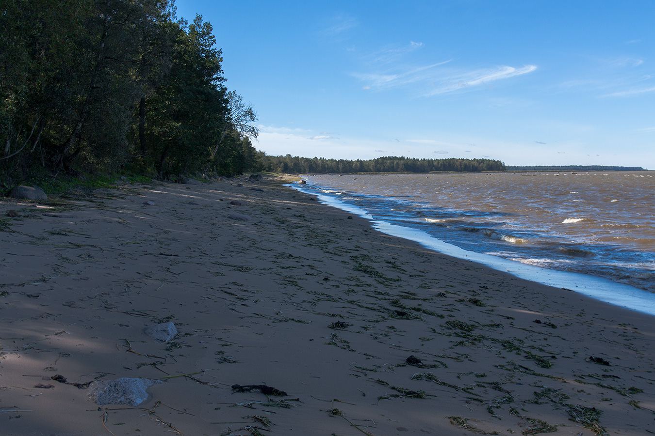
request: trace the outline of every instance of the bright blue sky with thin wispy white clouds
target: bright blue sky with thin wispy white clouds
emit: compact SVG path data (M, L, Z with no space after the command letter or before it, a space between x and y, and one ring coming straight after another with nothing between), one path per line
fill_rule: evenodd
M267 154L655 169L655 1L178 0Z

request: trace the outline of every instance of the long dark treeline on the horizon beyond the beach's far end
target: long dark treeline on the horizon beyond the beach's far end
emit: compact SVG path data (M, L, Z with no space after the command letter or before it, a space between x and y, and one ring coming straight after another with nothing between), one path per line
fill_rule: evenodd
M491 159L417 159L386 156L369 160L299 158L298 156L265 156L259 159L267 171L274 173L430 173L455 171L505 171L505 164Z

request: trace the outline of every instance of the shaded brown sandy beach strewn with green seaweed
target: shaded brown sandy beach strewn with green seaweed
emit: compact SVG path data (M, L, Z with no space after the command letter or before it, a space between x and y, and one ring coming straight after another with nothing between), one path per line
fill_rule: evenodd
M0 433L655 433L652 317L430 252L281 182L0 201ZM143 333L161 322L169 343ZM138 407L84 389L122 377L164 383Z

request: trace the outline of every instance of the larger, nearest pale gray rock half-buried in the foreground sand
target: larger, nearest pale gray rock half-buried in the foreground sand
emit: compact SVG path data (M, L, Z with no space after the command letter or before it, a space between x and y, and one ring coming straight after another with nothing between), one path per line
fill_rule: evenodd
M98 380L88 387L88 396L98 403L124 404L136 407L148 399L147 388L153 384L163 383L161 380L148 378L117 378L116 380Z

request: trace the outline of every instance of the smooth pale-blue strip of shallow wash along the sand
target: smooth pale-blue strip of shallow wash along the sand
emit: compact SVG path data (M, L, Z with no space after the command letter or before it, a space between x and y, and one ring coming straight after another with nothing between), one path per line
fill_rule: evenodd
M367 214L366 210L361 209L360 207L348 205L347 203L329 195L309 192L309 190L304 190L302 185L287 184L285 186L299 192L316 195L318 201L325 205L345 210L346 212L370 220L373 227L378 231L394 237L415 241L435 252L446 254L453 258L481 263L482 265L486 265L496 271L510 273L515 277L530 280L531 282L541 283L555 288L573 290L611 305L655 316L655 295L634 288L633 286L612 282L606 278L567 271L556 271L534 265L526 265L525 263L507 260L489 254L464 250L453 244L436 239L425 231L411 227L398 226L397 224L391 224L390 222L383 220L375 220L373 216Z

